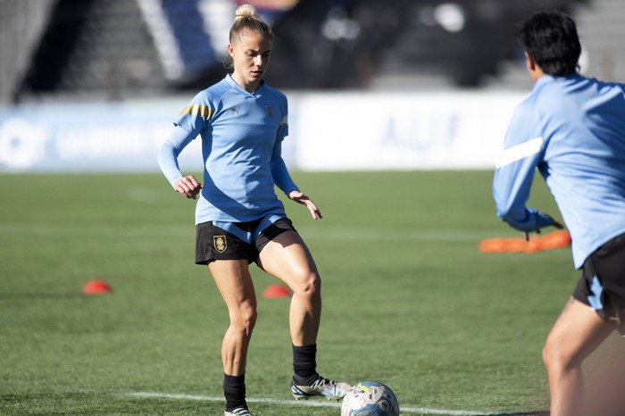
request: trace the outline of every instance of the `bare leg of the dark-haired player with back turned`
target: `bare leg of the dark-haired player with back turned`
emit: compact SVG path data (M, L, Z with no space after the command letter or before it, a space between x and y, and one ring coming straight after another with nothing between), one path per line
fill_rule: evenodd
M582 416L584 379L581 363L604 342L614 325L586 304L571 299L564 306L543 349L549 378L551 416Z

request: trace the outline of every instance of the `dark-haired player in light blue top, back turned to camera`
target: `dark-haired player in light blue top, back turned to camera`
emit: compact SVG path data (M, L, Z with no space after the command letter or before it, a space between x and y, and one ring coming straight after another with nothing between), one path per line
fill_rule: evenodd
M582 270L543 349L550 414L597 414L583 400L581 364L613 330L625 334L625 86L579 75L577 28L562 12L531 14L517 38L535 84L504 139L496 211L526 233L561 228L526 206L536 169L546 180Z

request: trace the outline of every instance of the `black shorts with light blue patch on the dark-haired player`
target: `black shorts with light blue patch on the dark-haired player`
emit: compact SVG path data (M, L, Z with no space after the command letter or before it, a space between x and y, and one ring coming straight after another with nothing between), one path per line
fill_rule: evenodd
M603 320L613 321L625 335L625 234L588 256L573 297Z

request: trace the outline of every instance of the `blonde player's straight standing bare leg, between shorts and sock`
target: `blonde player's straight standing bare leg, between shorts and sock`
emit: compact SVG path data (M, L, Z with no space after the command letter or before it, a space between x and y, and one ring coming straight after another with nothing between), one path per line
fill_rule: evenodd
M246 370L247 347L256 322L256 295L246 260L218 260L208 264L212 278L228 306L230 325L221 344L223 372L240 376Z

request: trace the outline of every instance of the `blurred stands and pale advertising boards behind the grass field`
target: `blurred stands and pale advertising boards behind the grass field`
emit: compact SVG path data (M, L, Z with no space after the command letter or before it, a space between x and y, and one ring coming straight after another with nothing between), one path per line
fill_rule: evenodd
M241 3L276 33L296 169L490 167L531 89L513 27L535 10L577 21L583 74L625 81L622 0L0 0L0 171L156 170L179 109L227 73Z

